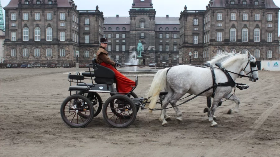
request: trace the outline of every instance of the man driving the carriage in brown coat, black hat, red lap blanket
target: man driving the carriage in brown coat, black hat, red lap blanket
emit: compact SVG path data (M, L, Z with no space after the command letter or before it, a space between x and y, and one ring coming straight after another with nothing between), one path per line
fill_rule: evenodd
M108 52L106 51L107 44L108 44L107 38L100 38L100 47L96 53L97 64L105 66L114 71L115 78L116 78L117 92L128 93L132 90L132 86L135 86L135 82L125 77L115 68L115 66L121 64L111 61L110 57L108 56Z

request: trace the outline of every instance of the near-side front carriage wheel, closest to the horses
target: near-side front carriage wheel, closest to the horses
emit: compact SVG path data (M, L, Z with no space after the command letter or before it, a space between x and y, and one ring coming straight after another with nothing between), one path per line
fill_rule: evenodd
M118 99L121 101L119 101L119 104L115 104L112 108L110 105L111 102L115 103ZM119 107L120 105L122 107ZM130 97L125 95L114 95L105 101L102 114L104 120L110 126L114 128L126 128L134 122L137 108Z

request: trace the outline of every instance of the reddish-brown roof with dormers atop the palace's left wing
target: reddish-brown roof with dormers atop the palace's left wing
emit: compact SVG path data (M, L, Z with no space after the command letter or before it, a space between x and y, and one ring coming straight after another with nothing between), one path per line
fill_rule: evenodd
M70 5L70 3L74 3L74 1L72 1L72 0L57 0L57 7L72 7ZM21 1L21 4L24 4L24 0ZM33 1L33 4L36 4L36 0ZM45 0L45 4L48 4L48 0ZM18 0L11 0L9 2L9 4L4 8L17 8L17 7L18 7Z

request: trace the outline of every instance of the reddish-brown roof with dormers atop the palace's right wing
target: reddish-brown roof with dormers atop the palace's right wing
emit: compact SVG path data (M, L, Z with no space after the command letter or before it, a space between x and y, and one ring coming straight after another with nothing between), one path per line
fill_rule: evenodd
M250 4L250 0L246 0L247 2L247 5ZM237 4L237 1L235 1L236 4ZM242 4L243 0L241 1L241 4ZM217 8L220 8L220 7L226 7L225 4L226 4L226 0L211 0L210 3L212 3L211 7L217 7ZM230 4L230 1L229 1L229 4ZM261 5L262 2L259 1L259 5ZM275 3L273 2L273 0L265 0L264 1L264 4L265 4L265 7L266 8L277 8L277 9L280 9L279 7L277 7L275 5Z

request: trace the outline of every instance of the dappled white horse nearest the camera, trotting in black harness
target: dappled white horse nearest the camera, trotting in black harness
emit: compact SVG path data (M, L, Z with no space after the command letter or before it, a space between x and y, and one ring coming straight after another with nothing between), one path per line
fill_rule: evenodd
M218 124L213 120L213 116L221 99L226 98L236 102L235 109L230 109L232 113L239 112L238 108L240 104L238 97L230 95L233 87L235 86L222 86L221 84L228 83L230 81L229 77L235 83L235 80L241 71L244 71L247 74L250 81L256 82L259 79L259 73L256 66L256 59L251 55L250 52L232 56L226 61L223 61L220 64L220 67L216 65L213 67L213 71L216 76L216 82L218 84L220 83L220 85L216 88L208 121L211 123L212 127L217 127ZM229 76L226 75L226 72L230 72L228 73ZM162 101L162 110L160 115L160 120L162 122L161 124L164 126L167 123L165 120L165 108L168 103L170 103L174 108L177 116L176 120L178 123L180 123L182 121L182 112L176 106L176 102L186 93L194 95L198 95L200 93L199 96L206 97L212 96L213 90L207 90L212 87L212 85L212 73L210 68L202 68L191 65L178 65L171 68L158 70L148 91L148 101L150 101L148 107L150 108L150 113L152 113L152 109L155 108L156 99L159 96L160 91L163 88L166 88L168 93L165 99Z

